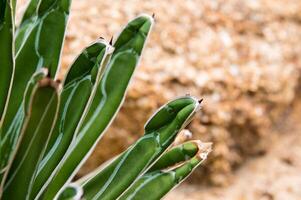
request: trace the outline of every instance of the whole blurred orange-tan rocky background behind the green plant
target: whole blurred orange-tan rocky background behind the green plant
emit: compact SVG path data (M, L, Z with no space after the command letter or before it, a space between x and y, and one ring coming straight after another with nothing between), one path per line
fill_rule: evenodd
M121 112L80 175L189 93L204 101L188 128L214 149L167 200L301 199L301 1L73 0L62 76L85 46L140 13L156 24Z

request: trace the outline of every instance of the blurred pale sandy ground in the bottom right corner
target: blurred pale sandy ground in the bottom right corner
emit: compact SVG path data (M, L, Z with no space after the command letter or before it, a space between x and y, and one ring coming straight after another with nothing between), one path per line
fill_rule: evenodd
M249 159L223 188L183 184L166 200L300 200L301 199L301 99L277 127L271 148ZM272 130L275 131L275 130Z

